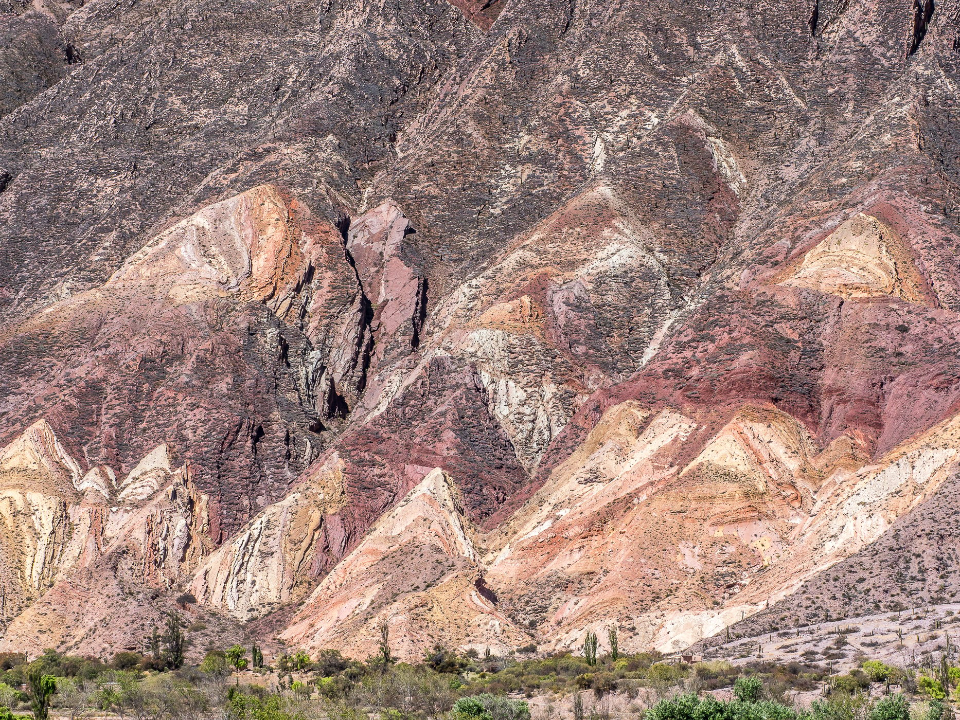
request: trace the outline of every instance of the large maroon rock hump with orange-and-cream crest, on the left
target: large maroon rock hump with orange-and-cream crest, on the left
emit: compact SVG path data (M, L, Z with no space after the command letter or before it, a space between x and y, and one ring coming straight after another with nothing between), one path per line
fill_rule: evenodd
M151 468L132 467L153 439L180 448L215 497L220 540L283 496L337 418L331 398L356 394L365 312L339 231L260 186L14 325L0 338L0 403L11 420L40 414L87 457L130 468L121 499L156 491ZM31 367L48 338L50 365ZM168 453L144 462L169 466ZM247 492L228 491L238 484Z

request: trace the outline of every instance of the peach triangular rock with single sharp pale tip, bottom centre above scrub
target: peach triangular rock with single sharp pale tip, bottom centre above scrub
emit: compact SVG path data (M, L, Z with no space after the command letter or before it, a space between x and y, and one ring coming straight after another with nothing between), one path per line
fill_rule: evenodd
M525 644L485 587L457 494L441 468L427 473L330 571L280 638L356 658L376 653L384 625L401 658L434 644L493 652Z

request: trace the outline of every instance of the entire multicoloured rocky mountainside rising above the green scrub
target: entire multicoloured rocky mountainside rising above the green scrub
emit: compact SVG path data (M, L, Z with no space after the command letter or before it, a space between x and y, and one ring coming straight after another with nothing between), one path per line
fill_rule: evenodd
M0 28L0 651L178 602L193 652L675 651L960 582L957 0Z

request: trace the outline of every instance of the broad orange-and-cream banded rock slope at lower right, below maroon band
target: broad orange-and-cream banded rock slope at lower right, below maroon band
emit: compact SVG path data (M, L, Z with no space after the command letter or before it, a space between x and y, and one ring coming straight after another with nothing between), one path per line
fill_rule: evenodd
M955 419L868 464L772 408L717 424L609 410L492 540L511 610L561 647L619 623L624 647L683 649L876 540L960 459Z

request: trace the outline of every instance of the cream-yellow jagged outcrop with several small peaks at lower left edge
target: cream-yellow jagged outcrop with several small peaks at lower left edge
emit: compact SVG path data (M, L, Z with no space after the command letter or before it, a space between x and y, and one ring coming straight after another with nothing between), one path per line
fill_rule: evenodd
M210 498L188 466L172 467L167 446L120 483L111 468L81 472L45 420L0 450L2 647L39 652L52 638L90 652L135 644L142 622L107 634L98 625L135 614L151 590L179 586L214 547ZM60 607L78 583L84 602Z

